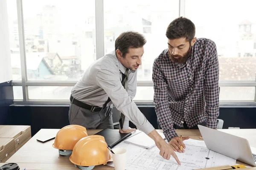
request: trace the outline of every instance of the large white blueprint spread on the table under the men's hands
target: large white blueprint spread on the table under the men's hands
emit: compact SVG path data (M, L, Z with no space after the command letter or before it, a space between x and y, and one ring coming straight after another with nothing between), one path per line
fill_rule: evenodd
M116 147L127 150L126 170L192 170L206 167L236 164L236 160L207 149L204 141L188 139L184 141L184 153L176 152L181 165L171 156L170 160L159 155L159 149L154 146L145 149L133 144L121 142ZM108 163L113 167L113 162Z

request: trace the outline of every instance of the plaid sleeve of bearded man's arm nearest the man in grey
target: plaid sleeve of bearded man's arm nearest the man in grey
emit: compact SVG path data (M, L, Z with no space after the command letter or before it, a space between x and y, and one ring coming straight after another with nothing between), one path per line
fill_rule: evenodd
M153 65L152 79L154 82L154 104L157 118L169 142L173 137L177 136L177 133L173 128L172 115L168 104L168 84L156 60Z

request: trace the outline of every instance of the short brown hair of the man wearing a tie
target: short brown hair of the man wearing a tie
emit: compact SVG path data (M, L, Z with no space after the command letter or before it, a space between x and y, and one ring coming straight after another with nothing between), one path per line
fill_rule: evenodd
M146 42L145 37L138 32L123 32L116 38L115 51L119 49L122 52L122 57L125 57L129 48L143 47Z

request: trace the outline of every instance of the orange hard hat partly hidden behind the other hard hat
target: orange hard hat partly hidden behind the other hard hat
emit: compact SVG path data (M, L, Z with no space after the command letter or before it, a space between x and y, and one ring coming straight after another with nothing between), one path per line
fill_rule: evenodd
M85 127L80 125L68 125L58 131L52 146L59 149L60 155L68 155L72 152L75 144L86 136L88 135ZM64 150L69 151L65 153Z

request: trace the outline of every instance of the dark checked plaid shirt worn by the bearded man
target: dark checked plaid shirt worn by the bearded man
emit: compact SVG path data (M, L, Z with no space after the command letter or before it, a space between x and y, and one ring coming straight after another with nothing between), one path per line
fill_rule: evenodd
M219 115L219 64L216 45L200 38L192 46L186 63L174 63L168 49L154 60L154 104L166 139L177 136L173 124L186 121L193 127L206 120L217 127Z

